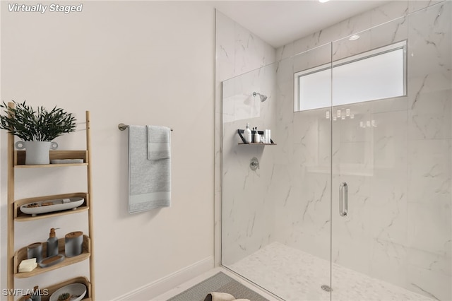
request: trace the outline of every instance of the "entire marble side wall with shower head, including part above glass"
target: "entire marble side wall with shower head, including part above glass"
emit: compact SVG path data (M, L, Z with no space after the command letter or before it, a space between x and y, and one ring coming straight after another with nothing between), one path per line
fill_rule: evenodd
M215 57L215 264L218 265L221 248L222 263L230 264L266 244L274 228L273 206L267 206L270 199L264 197L271 182L271 147L239 146L237 129L244 129L246 122L260 130L275 129L275 70L268 66L275 61L275 49L215 11ZM262 66L267 67L259 69ZM242 80L234 79L244 73ZM230 81L222 85L226 80ZM251 96L254 91L267 95L266 102L254 99ZM261 163L256 172L249 169L253 157ZM228 216L223 225L221 213Z

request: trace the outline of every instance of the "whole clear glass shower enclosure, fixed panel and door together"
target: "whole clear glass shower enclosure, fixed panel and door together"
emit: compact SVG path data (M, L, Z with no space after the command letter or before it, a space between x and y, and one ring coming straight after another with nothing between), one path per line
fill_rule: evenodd
M222 83L222 266L283 300L452 299L451 4Z

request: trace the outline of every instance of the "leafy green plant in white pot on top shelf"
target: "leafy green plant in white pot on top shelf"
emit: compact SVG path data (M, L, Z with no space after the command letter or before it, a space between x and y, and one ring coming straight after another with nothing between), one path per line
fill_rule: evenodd
M0 104L6 115L0 115L0 129L23 141L16 143L17 148L25 148L26 165L49 164L49 149L54 138L76 130L76 119L71 113L56 106L52 110L44 107L32 107L24 102L13 101L13 105ZM22 143L22 144L21 144ZM56 146L52 147L56 149Z

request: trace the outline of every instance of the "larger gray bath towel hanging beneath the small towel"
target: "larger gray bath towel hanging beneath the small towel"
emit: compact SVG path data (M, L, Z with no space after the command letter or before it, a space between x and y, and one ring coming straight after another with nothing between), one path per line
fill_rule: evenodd
M148 127L129 125L129 213L171 205L171 158L148 160Z

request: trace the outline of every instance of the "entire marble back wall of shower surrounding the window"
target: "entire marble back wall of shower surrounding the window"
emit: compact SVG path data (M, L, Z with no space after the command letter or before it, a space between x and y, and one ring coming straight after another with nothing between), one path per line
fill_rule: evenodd
M439 300L452 299L451 4L394 1L278 49L302 53L278 66L275 240L329 259L331 234L335 263ZM359 40L338 40L354 33ZM333 107L355 118L332 128L326 109L293 112L295 71L399 40L408 40L408 96Z

